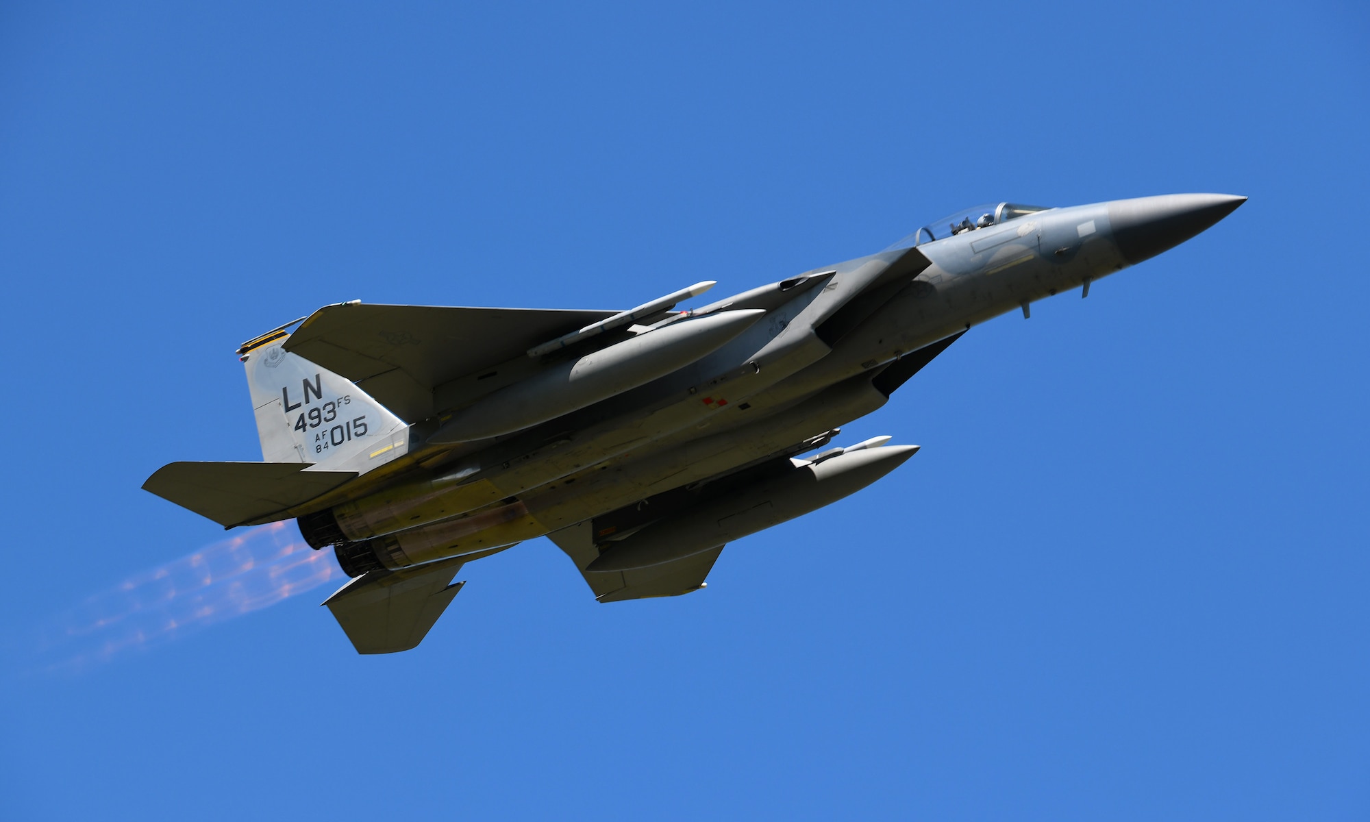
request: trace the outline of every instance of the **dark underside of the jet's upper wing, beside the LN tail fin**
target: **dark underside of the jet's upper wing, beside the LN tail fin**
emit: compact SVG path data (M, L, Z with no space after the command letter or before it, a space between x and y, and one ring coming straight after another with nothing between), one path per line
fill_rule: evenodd
M614 311L342 303L311 314L285 349L356 382L404 422L432 416L433 389L508 362Z

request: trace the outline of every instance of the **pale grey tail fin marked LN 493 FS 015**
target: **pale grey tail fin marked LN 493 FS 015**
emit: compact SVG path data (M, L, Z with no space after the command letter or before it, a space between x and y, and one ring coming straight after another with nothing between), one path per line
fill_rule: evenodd
M364 474L406 453L408 426L399 416L353 382L282 348L292 325L238 349L262 459Z

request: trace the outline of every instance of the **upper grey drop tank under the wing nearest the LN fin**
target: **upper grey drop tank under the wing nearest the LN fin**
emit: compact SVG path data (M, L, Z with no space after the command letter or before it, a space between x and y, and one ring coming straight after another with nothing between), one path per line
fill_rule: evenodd
M718 351L766 311L719 311L641 333L555 366L462 408L429 443L455 445L532 427L578 411Z

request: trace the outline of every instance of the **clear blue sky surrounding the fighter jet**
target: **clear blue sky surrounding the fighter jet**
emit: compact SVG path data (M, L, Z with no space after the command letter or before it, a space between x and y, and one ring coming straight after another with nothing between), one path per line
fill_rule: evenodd
M1362 4L190 5L0 7L0 817L1370 815ZM1171 192L1251 200L966 334L840 438L917 458L700 593L536 540L362 658L326 555L196 588L293 532L138 488L260 459L233 349L326 303Z

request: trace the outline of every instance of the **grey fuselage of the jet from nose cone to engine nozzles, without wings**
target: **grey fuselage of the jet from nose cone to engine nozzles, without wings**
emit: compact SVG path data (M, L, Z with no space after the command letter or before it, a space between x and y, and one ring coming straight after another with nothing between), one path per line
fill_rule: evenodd
M719 300L696 314L766 314L647 385L497 440L436 443L451 414L414 425L408 453L384 473L393 480L373 493L352 489L327 515L347 540L340 560L352 571L485 553L811 449L888 400L903 379L881 375L901 358L1088 288L1240 203L1177 195L1030 211L978 229L967 222L959 233L948 225L941 238L923 230L908 244ZM301 518L307 537L311 522Z

